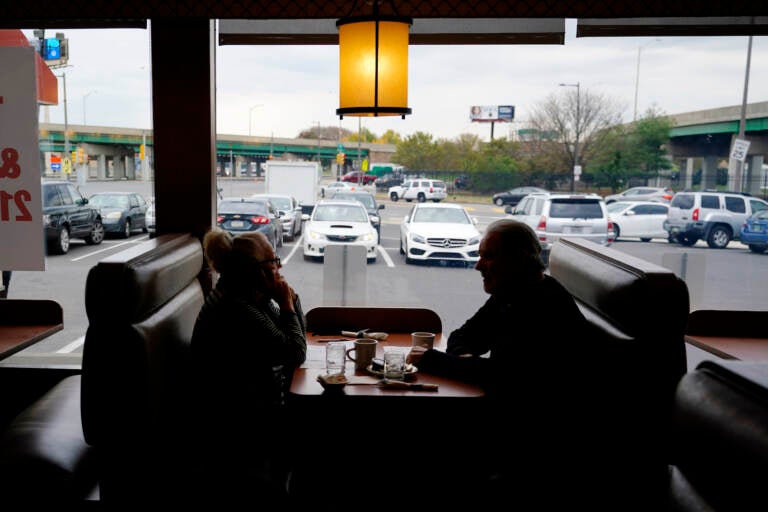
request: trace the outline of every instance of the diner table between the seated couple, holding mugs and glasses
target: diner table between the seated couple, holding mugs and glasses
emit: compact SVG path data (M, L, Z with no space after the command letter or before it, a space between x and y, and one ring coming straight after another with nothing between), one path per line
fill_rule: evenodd
M376 384L378 376L356 371L353 361L346 366L351 383L341 390L326 391L317 380L325 373L329 340L344 339L352 348L355 338L342 336L342 330L387 333L377 357L384 347L409 350L415 331L434 332L434 348L445 350L439 317L421 308L347 306L315 308L306 317L307 360L295 370L288 396L292 423L313 447L299 450L291 478L299 506L316 506L318 496L338 494L344 503L369 509L411 508L434 505L435 493L450 496L446 486L455 496L462 492L459 484L469 488L482 474L483 452L474 442L483 438L487 424L480 386L417 369L406 382L437 384L436 390L390 389ZM320 451L314 440L319 433ZM403 475L413 467L419 476L411 486ZM379 500L393 487L403 501L386 506Z

